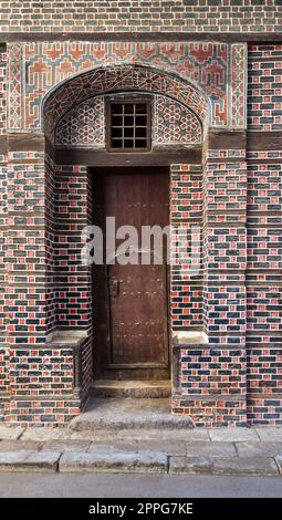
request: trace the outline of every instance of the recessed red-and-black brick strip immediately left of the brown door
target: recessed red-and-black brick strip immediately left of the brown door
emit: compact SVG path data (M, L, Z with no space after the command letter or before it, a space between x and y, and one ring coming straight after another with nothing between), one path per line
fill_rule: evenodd
M60 327L88 329L91 325L91 272L81 262L81 231L91 223L90 185L85 167L56 167L54 275Z

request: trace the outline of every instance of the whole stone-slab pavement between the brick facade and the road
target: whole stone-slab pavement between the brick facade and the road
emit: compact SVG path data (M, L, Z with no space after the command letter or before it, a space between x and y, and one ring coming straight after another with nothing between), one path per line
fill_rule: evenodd
M273 477L281 486L282 427L158 429L155 422L150 428L115 426L0 425L0 470Z

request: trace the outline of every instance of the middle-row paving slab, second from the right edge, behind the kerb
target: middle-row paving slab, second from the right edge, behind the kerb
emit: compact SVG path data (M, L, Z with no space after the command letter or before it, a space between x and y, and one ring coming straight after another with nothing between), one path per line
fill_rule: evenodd
M258 443L259 444L259 443ZM187 457L237 457L237 451L233 443L210 443L199 441L186 443Z

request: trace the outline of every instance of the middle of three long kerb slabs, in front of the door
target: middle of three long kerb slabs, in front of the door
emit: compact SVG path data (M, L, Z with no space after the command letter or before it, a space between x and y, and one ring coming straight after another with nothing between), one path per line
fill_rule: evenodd
M63 454L59 465L60 471L93 472L154 472L167 471L167 457L164 454L133 453L83 453Z

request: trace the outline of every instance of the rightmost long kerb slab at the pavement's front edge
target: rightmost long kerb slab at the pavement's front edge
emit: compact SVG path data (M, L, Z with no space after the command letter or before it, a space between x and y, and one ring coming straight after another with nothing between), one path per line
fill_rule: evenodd
M255 457L171 457L170 474L279 475L274 459Z

